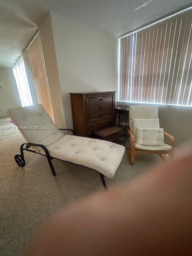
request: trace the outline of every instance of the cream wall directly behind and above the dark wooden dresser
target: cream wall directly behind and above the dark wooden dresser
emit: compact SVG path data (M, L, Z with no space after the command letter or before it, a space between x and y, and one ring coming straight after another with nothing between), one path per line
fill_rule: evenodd
M118 82L118 38L51 12L67 128L72 128L69 92L112 91Z

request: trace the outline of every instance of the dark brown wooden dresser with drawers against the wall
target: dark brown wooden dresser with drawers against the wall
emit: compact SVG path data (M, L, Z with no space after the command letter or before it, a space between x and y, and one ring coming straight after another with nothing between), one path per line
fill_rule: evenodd
M115 91L70 93L73 126L78 136L115 124Z

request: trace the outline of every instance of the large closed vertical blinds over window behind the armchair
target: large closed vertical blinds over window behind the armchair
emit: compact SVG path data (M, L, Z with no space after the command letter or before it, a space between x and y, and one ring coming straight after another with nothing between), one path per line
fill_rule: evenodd
M119 100L192 106L192 10L120 38Z

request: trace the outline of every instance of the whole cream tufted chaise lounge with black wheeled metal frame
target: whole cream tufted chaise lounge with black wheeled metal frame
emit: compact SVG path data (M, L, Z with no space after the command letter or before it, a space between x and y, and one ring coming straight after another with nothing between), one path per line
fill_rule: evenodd
M24 167L24 150L47 157L53 176L52 159L86 166L99 172L104 188L104 176L112 178L120 165L125 147L105 140L74 136L61 132L41 104L8 110L8 116L26 139L15 155L18 166Z

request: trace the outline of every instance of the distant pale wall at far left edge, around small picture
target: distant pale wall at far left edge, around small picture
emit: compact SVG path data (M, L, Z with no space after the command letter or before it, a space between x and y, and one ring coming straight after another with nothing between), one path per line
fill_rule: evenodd
M21 107L21 102L12 68L0 68L0 82L4 82L6 90L0 90L0 117L7 116L10 108Z

